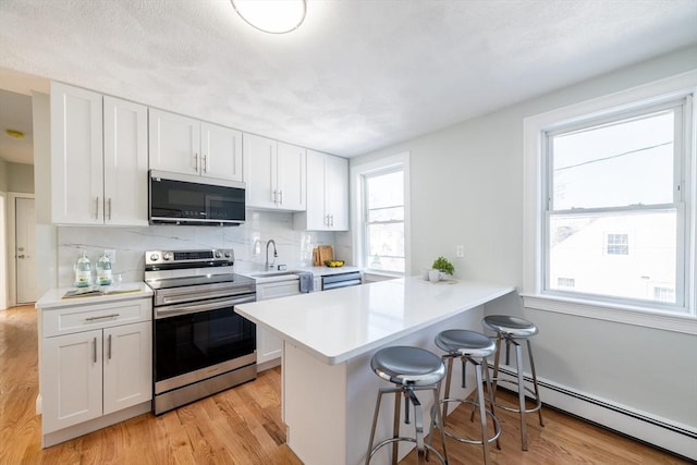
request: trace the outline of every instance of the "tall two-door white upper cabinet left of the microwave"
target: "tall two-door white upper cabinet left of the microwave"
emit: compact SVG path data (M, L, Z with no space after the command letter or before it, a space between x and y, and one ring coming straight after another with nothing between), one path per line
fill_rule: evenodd
M52 221L147 225L147 108L51 83L50 111Z

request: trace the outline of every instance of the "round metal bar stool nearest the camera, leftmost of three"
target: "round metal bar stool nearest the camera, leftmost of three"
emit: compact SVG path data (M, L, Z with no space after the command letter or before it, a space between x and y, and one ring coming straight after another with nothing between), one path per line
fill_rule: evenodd
M438 408L438 400L440 397L440 384L445 376L445 366L438 355L429 351L409 346L393 346L381 348L370 359L370 368L375 374L386 381L392 382L393 388L380 388L378 391L378 400L375 406L375 415L372 417L372 429L370 431L370 442L368 443L368 454L366 455L366 465L370 463L372 455L383 445L392 443L392 464L398 462L399 441L415 442L418 453L418 463L424 464L427 451L432 451L443 464L448 464L448 453L445 452L445 436L443 435L442 419L440 417L440 408ZM424 444L424 416L421 412L421 403L416 396L415 391L432 391L433 408L431 409L431 436L429 443ZM375 448L375 430L378 424L378 414L380 412L380 402L383 394L394 394L394 423L392 429L392 438L386 439ZM408 425L409 420L409 402L414 405L414 428L415 437L400 437L400 401L404 395L404 423ZM432 444L433 426L439 427L441 432L441 442L443 444L443 455L441 455Z

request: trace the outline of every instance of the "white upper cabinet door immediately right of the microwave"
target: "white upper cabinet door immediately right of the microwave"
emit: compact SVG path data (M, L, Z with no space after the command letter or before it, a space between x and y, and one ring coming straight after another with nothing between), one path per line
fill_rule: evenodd
M277 142L253 134L243 135L244 180L247 184L247 206L276 208L278 191L276 181Z

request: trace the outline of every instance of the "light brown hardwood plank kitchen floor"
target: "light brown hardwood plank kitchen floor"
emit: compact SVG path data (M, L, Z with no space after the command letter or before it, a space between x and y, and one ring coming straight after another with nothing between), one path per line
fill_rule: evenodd
M0 311L0 464L254 464L295 465L280 414L280 369L257 380L156 417L140 415L82 438L40 449L37 331L34 307ZM522 452L517 417L498 412L502 450L494 464L683 464L680 458L550 408L541 428L528 421ZM474 428L469 411L449 417ZM369 428L367 419L366 428ZM481 463L481 448L448 439L452 465ZM440 446L438 441L435 445ZM407 456L402 464L416 463ZM431 457L430 464L436 464ZM322 464L323 465L323 464ZM333 465L333 464L326 464Z

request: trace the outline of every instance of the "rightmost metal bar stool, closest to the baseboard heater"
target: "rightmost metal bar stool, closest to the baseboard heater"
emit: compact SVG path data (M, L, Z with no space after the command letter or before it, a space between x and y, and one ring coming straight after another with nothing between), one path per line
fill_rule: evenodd
M499 382L506 382L517 387L518 392L518 406L516 408L508 405L497 404L498 407L509 412L515 412L521 414L521 443L524 451L527 451L527 429L525 426L525 414L537 412L540 418L540 426L545 426L542 421L542 401L540 399L540 391L537 386L537 375L535 374L535 360L533 358L533 347L530 346L529 338L537 334L539 330L537 326L531 321L524 318L513 317L509 315L490 315L481 320L481 325L491 331L497 333L497 355L493 363L493 395L496 399L496 391ZM499 379L499 358L501 354L501 343L505 341L505 364L509 365L511 344L515 345L515 366L517 371L517 381ZM525 379L523 378L523 346L519 342L525 341L527 343L527 355L530 363L530 375L533 375L533 387L535 391L525 386ZM525 406L525 392L528 392L535 405L531 408Z

